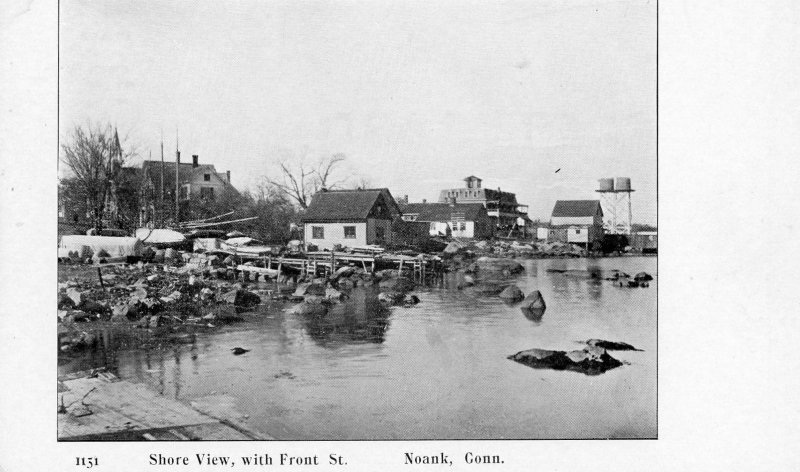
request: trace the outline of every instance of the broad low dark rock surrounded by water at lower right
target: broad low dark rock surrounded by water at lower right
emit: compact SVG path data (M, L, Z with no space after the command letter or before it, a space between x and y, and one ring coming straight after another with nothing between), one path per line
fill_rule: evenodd
M572 370L586 375L598 375L622 365L605 349L588 346L576 351L529 349L508 356L509 359L534 369Z

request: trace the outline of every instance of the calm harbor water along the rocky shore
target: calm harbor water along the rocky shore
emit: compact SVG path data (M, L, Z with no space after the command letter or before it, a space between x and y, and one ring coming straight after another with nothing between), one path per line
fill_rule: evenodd
M356 291L323 322L278 309L258 321L160 350L93 351L65 370L113 364L122 378L191 401L234 399L248 426L278 439L651 438L656 436L656 287L597 283L589 271L656 275L655 258L524 261L514 282L538 289L541 318L498 298L446 286L421 303L383 308ZM569 275L548 272L567 269ZM620 368L597 376L506 359L601 338ZM251 349L234 356L230 348Z

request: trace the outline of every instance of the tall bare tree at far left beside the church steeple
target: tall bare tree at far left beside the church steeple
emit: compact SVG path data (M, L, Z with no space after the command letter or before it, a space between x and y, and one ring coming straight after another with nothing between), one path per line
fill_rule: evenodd
M123 151L119 135L111 125L76 126L61 145L62 162L71 171L80 198L86 202L96 228L102 228L110 192L125 161L133 155Z

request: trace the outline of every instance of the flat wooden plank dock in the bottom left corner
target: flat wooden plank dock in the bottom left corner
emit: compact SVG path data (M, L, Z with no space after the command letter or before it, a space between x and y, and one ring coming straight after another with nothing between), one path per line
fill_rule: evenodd
M109 373L58 383L59 441L272 439Z

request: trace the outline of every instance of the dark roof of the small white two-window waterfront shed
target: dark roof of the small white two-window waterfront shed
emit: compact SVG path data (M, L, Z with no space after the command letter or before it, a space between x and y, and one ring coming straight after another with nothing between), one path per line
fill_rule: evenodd
M326 190L311 198L303 221L365 220L375 204L384 202L388 213L384 219L400 214L400 209L388 189Z

